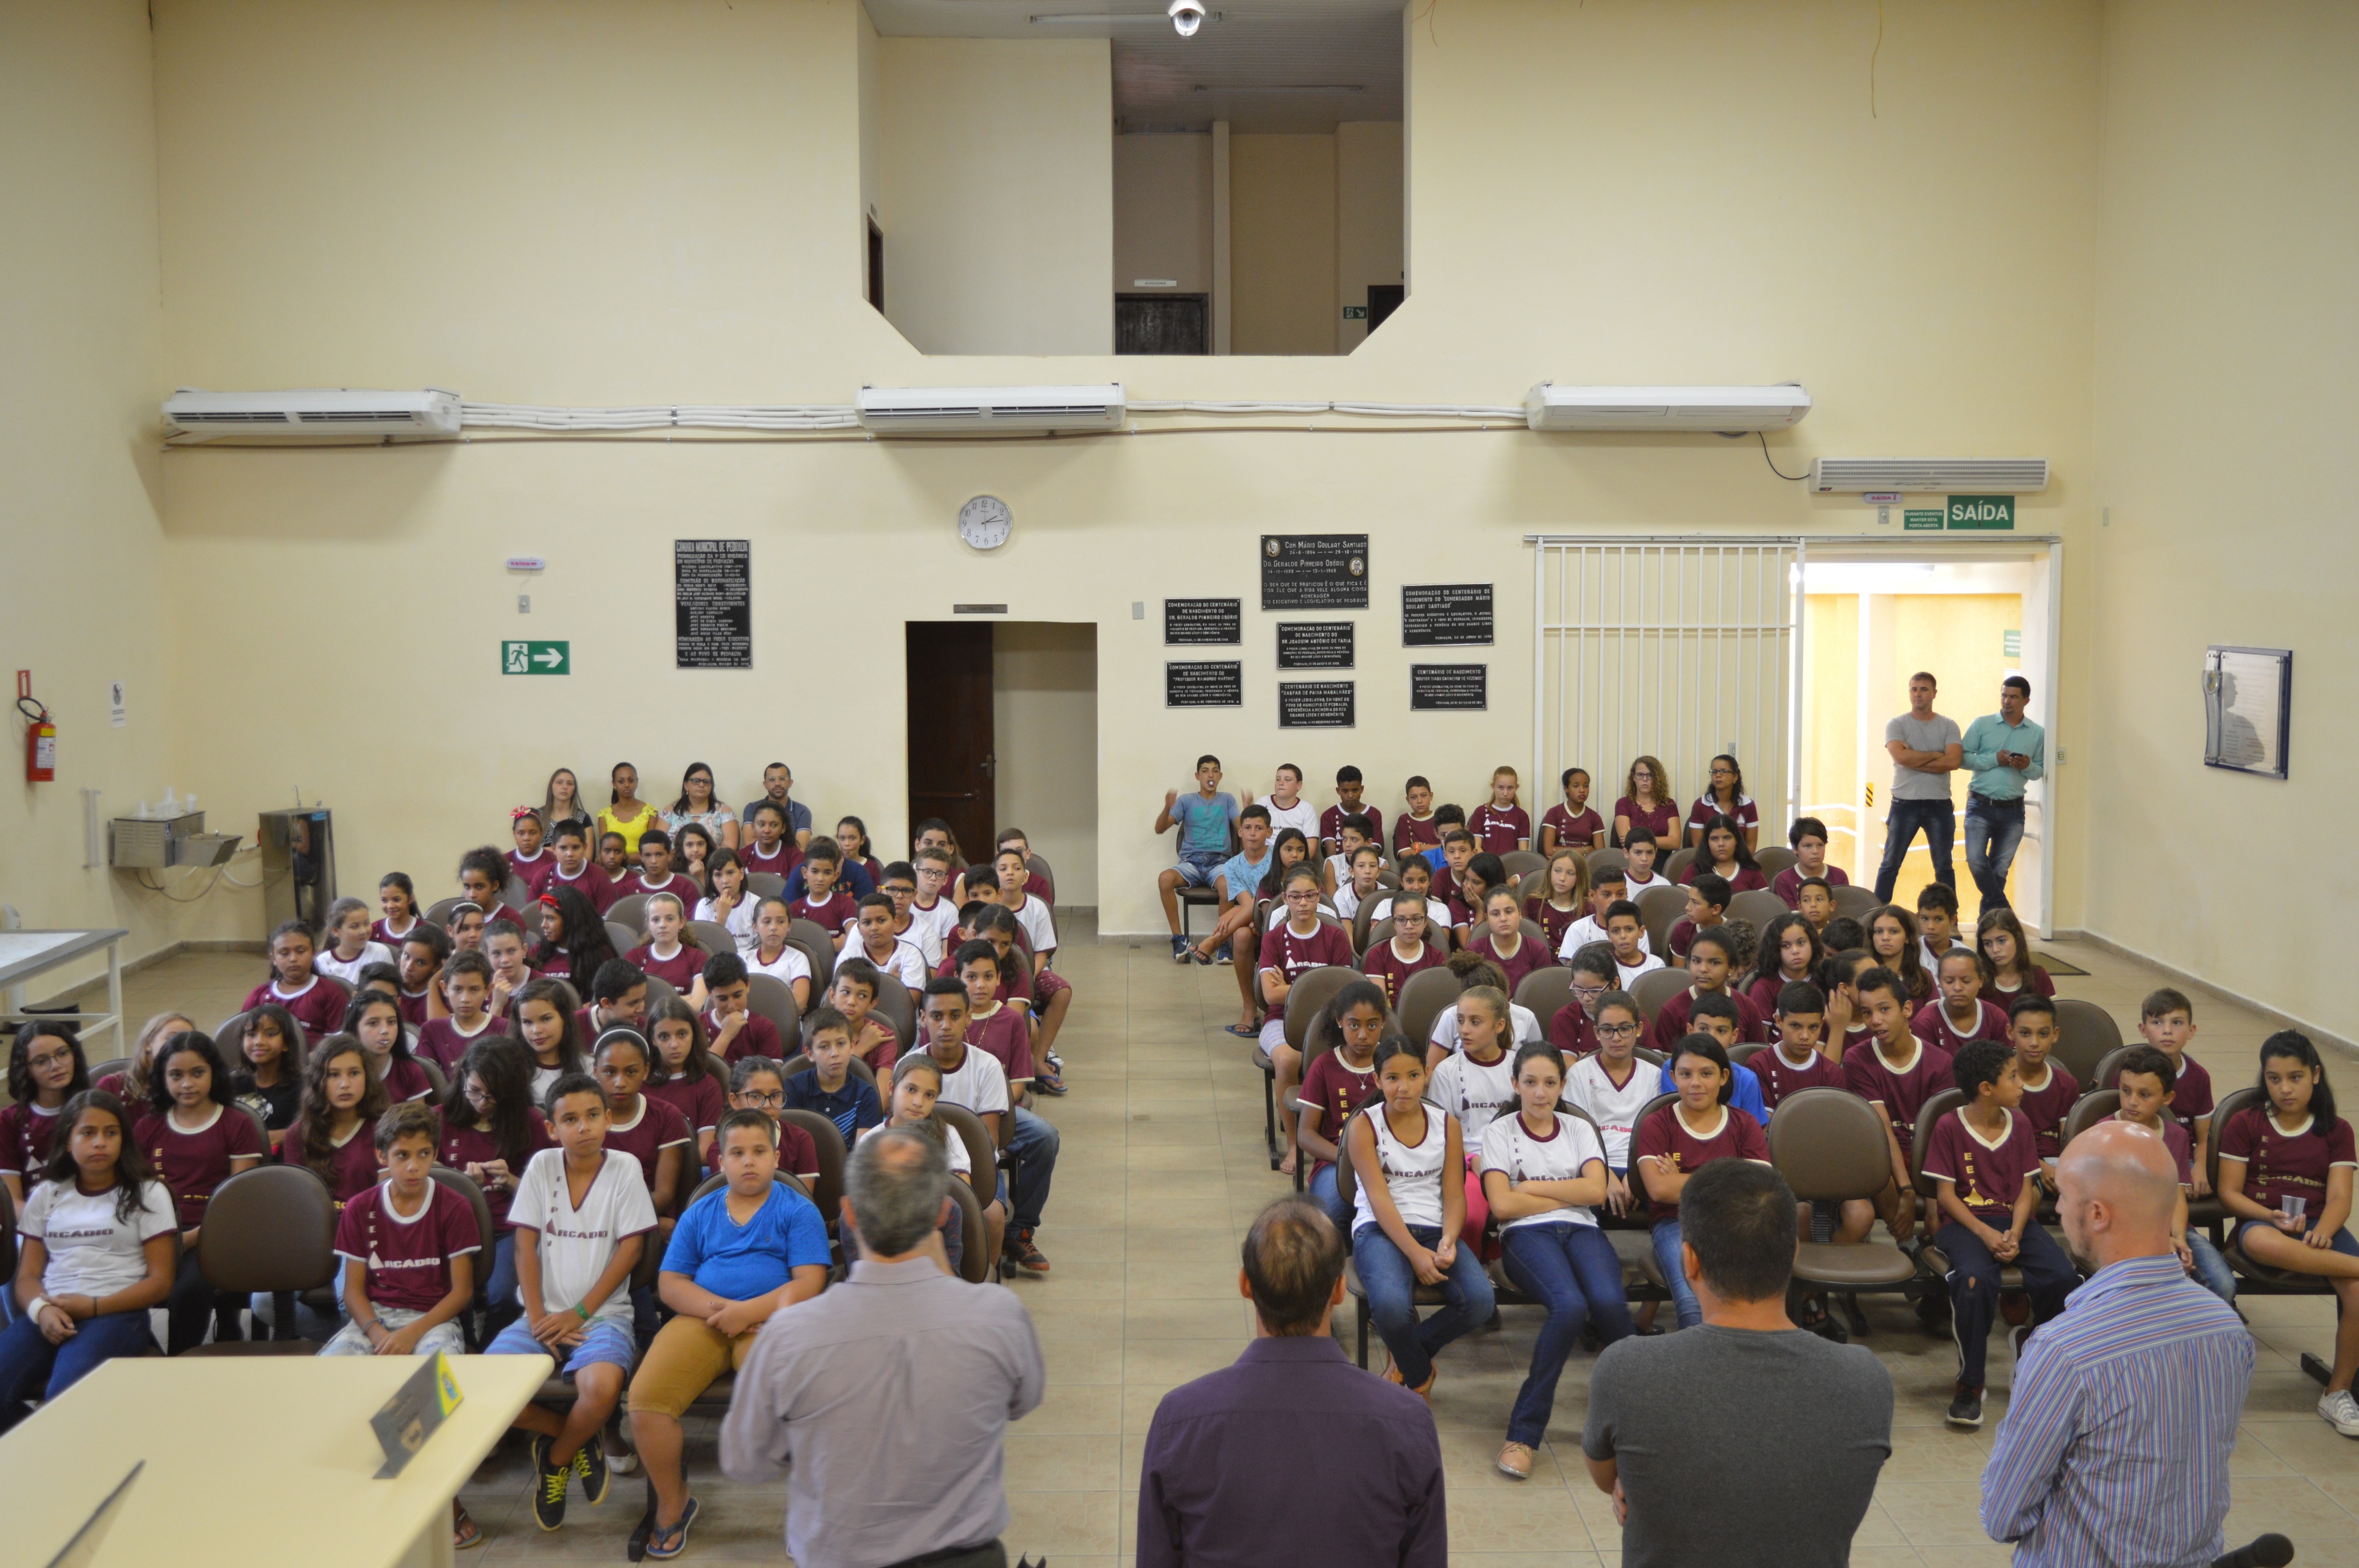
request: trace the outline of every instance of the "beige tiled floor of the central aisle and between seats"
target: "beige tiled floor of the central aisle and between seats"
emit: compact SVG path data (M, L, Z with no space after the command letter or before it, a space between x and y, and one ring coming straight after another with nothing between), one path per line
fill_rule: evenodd
M2137 1023L2137 1000L2154 974L2088 946L2066 946L2088 979L2059 990L2102 1002ZM175 1004L212 1023L238 1007L259 979L259 957L186 955L130 981L130 1012ZM1047 1401L1007 1436L1007 1493L1014 1523L1007 1549L1043 1554L1057 1568L1128 1561L1137 1471L1165 1389L1227 1365L1250 1332L1236 1297L1236 1240L1253 1214L1290 1184L1262 1155L1262 1087L1246 1042L1222 1033L1236 1019L1227 969L1182 969L1168 948L1097 946L1069 929L1059 953L1076 990L1064 1056L1073 1092L1047 1101L1064 1134L1057 1191L1040 1245L1054 1269L1021 1280L1047 1351ZM2196 1056L2227 1082L2241 1080L2262 1021L2196 995ZM1854 1563L1998 1563L2003 1547L1974 1518L1979 1474L2005 1412L2008 1351L1993 1344L1989 1424L1958 1434L1941 1424L1956 1353L1927 1337L1901 1306L1871 1306L1868 1346L1892 1370L1899 1412ZM2236 1507L2229 1540L2281 1530L2300 1542L2300 1563L2359 1566L2359 1443L2314 1415L2317 1384L2295 1365L2300 1351L2331 1353L2333 1311L2319 1299L2246 1302L2260 1339L2260 1370L2236 1445ZM1573 1568L1618 1561L1618 1533L1604 1497L1581 1469L1588 1358L1564 1372L1548 1452L1533 1478L1491 1471L1531 1351L1531 1313L1507 1311L1505 1327L1441 1356L1434 1419L1451 1485L1451 1559L1493 1568ZM1378 1351L1380 1353L1380 1351ZM781 1502L774 1490L736 1488L712 1464L710 1422L691 1422L691 1474L705 1502L689 1547L708 1561L781 1561ZM561 1533L543 1535L524 1502L524 1462L502 1450L467 1502L491 1542L474 1561L526 1556L620 1556L639 1511L639 1488L620 1481L599 1509L576 1502Z

